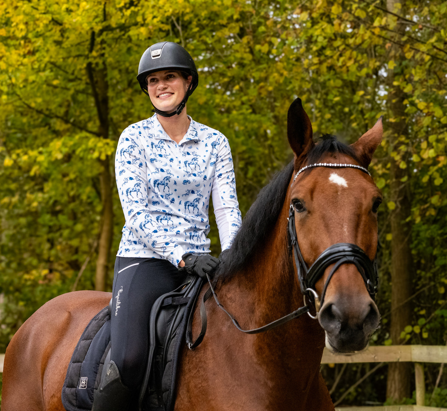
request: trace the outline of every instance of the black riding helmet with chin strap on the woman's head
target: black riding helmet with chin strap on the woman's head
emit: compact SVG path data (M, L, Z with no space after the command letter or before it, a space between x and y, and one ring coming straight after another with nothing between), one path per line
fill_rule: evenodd
M175 111L168 114L166 111L158 110L154 106L153 111L164 117L172 117L176 114L180 114L183 107L185 107L189 96L193 94L193 91L198 86L198 73L194 60L190 56L190 53L181 47L180 44L173 43L171 41L164 41L153 44L149 47L143 53L143 56L141 56L140 64L138 66L137 80L140 84L141 90L143 90L143 92L147 95L149 94L146 77L148 77L150 73L169 69L183 71L193 78L188 90L186 90L185 97L181 100L181 103Z

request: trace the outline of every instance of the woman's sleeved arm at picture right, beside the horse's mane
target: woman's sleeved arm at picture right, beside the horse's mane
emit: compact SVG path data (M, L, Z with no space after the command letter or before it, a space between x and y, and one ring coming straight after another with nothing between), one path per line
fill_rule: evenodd
M230 248L241 223L233 159L230 145L223 134L220 135L211 195L223 251Z

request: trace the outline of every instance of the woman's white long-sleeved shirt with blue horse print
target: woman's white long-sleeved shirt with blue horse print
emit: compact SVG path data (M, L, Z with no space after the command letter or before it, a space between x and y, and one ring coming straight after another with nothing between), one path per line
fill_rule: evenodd
M222 250L240 227L228 140L190 118L177 144L156 114L121 134L115 175L126 224L121 257L155 257L178 265L184 253L209 253L208 209L213 200Z

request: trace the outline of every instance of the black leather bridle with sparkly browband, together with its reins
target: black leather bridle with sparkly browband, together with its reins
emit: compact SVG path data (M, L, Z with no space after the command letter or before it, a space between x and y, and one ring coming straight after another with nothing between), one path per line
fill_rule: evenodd
M313 167L350 167L350 168L357 168L365 173L367 173L370 177L371 174L369 171L361 166L358 166L356 164L339 164L339 163L315 163L310 164L308 166L302 167L299 169L299 171L295 174L292 184L294 184L296 178L301 174L303 171L308 170ZM205 308L205 301L207 301L211 295L213 295L214 300L217 304L217 306L230 317L232 323L235 325L235 327L245 333L245 334L259 334L268 330L272 330L275 327L278 327L278 325L282 325L288 321L293 320L294 318L300 317L305 313L308 313L308 315L313 318L317 319L318 314L320 312L320 307L323 305L324 297L326 293L326 289L329 285L329 281L333 277L333 274L335 271L338 270L338 268L343 264L354 264L357 267L358 272L363 278L363 281L365 283L365 287L367 288L367 291L371 298L375 300L375 294L377 292L377 284L378 284L378 271L377 271L377 257L374 259L374 261L371 261L369 257L366 255L366 253L357 245L350 244L350 243L337 243L333 244L330 247L326 248L325 251L323 251L317 259L314 261L314 263L308 268L306 265L306 262L304 261L304 258L301 254L301 250L299 249L298 239L296 235L296 227L295 227L295 206L293 205L293 202L290 205L289 209L289 217L287 218L287 240L288 240L288 249L289 253L293 250L293 255L295 259L295 266L297 270L297 277L299 281L299 286L301 289L301 293L303 294L304 299L304 307L300 307L297 310L293 311L290 314L285 315L284 317L278 318L278 320L272 321L269 324L266 324L262 327L255 328L253 330L243 330L239 323L237 322L236 318L229 313L222 304L220 304L219 299L217 297L217 294L214 290L213 284L211 282L210 276L207 274L207 280L210 285L210 288L205 292L205 294L202 297L202 301L200 303L200 317L202 319L202 329L200 331L200 334L198 337L193 341L192 336L192 321L194 317L194 309L191 310L189 318L188 318L188 324L186 327L186 344L190 350L193 350L195 347L197 347L200 343L202 343L203 337L205 336L205 333L207 331L207 310ZM318 293L315 290L315 285L317 281L323 276L325 270L329 265L334 264L332 270L329 273L329 276L326 280L326 283L323 287L323 291L321 293L321 296L318 295ZM197 295L198 296L198 295ZM197 298L196 296L196 298ZM309 302L313 304L315 307L316 314L313 316L310 313L310 308L306 302L306 297L308 297ZM194 302L195 305L195 302Z

